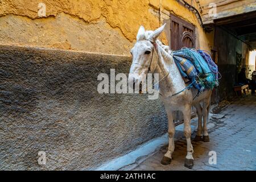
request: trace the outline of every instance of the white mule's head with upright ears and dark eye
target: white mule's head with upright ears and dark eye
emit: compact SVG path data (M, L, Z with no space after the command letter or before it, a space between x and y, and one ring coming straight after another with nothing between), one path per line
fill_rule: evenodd
M137 42L131 48L131 55L133 56L133 63L130 68L130 73L133 74L129 74L129 85L131 87L135 83L140 84L142 77L149 71L151 73L155 71L157 59L153 59L154 44L164 30L165 25L155 31L145 31L143 26L139 27Z

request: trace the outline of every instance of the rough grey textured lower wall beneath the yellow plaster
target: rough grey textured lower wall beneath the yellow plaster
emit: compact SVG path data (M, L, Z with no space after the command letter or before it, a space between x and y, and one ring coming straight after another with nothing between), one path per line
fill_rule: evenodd
M128 73L130 64L126 56L0 46L0 169L93 169L166 133L160 101L98 94L98 73Z

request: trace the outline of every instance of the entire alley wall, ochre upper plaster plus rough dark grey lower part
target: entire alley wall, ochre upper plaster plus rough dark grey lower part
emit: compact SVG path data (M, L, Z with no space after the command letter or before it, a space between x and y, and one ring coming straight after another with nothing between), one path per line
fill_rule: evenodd
M166 133L161 102L97 93L99 73L129 72L139 26L159 27L159 1L44 0L39 17L41 2L0 0L0 169L93 169ZM162 2L163 22L173 13L194 24L209 51L213 34L195 14ZM170 42L170 24L161 38Z

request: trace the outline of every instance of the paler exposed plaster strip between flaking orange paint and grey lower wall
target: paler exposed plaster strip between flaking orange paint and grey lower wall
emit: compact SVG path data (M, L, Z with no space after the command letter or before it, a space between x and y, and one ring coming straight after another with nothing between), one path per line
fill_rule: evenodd
M132 42L120 36L104 19L86 24L64 13L32 20L6 15L0 18L0 42L127 55ZM19 32L17 34L17 32Z

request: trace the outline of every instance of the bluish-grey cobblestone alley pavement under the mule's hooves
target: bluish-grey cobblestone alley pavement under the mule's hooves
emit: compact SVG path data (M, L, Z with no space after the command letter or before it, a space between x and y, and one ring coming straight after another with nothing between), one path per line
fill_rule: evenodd
M244 96L232 101L219 114L223 118L211 118L210 142L192 142L194 166L184 167L186 140L175 142L170 165L160 163L167 146L148 157L134 170L256 170L256 96ZM195 132L192 138L195 137ZM217 164L209 164L209 151L216 151Z

